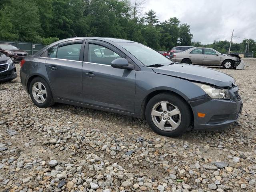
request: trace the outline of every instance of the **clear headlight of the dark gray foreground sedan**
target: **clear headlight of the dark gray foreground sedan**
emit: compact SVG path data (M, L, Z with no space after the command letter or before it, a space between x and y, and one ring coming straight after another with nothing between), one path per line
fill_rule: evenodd
M201 83L194 83L194 84L202 88L202 90L204 90L204 92L206 92L211 98L230 99L228 89L214 88L210 85L201 84Z

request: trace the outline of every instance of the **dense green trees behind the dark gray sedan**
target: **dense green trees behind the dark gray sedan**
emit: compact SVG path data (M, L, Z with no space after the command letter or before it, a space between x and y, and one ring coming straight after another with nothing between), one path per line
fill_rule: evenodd
M159 23L153 10L139 17L144 0L0 0L0 38L50 44L74 36L141 42L156 50L190 45L190 26L178 18Z

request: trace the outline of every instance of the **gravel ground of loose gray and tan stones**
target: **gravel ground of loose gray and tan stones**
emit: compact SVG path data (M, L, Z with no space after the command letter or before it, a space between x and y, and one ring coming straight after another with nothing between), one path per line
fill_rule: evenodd
M65 104L37 108L0 84L0 191L256 191L256 60L224 70L244 110L230 129L152 132L144 120ZM10 135L11 134L11 135Z

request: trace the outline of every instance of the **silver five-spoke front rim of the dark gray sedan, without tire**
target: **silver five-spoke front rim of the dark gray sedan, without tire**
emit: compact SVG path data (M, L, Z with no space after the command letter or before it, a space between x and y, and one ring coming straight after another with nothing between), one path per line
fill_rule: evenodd
M167 101L156 103L152 108L151 117L154 124L164 131L175 130L181 122L180 110Z

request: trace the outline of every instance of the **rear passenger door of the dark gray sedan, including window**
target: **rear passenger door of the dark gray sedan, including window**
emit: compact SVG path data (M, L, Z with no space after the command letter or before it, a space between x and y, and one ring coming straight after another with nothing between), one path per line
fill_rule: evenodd
M48 49L45 62L50 83L58 98L83 100L82 60L84 40L73 40Z

